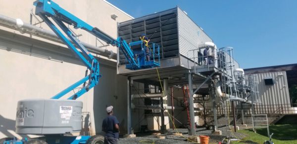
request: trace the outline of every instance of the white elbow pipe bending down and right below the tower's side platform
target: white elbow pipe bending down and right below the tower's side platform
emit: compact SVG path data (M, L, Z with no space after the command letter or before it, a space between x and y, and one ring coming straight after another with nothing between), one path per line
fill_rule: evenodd
M247 103L247 104L251 105L251 101L249 101L247 99L243 99L243 98L239 98L239 97L236 97L236 96L232 96L232 95L229 95L229 94L222 93L221 86L220 86L220 84L218 82L218 79L214 80L214 92L215 92L215 94L217 96L227 98L227 99L232 99L233 101L238 101L238 102Z

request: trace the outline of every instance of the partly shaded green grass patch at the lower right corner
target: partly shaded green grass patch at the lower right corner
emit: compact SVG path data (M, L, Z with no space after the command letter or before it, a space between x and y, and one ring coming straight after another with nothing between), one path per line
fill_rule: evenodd
M239 130L238 133L243 133L247 135L240 142L233 142L232 144L263 144L267 137L266 128L257 128L257 133L254 133L252 129ZM272 142L274 144L297 144L297 125L296 124L286 124L286 125L270 125L270 134L274 133L272 136Z

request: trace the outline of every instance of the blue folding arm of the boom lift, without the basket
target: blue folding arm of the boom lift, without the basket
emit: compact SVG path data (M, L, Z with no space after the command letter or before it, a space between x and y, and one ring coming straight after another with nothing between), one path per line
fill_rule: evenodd
M93 57L93 55L84 47L80 40L77 39L72 32L65 26L64 23L67 23L69 25L73 25L75 29L83 29L92 35L102 39L108 44L112 44L113 46L119 47L126 59L129 61L129 63L135 67L139 67L139 63L137 63L134 59L134 54L132 50L130 49L129 45L125 40L123 40L121 37L117 38L117 40L113 39L111 36L108 36L104 32L100 31L98 28L92 27L91 25L87 24L86 22L82 21L81 19L77 18L76 16L72 15L65 9L61 8L57 3L53 2L52 0L36 0L34 2L34 5L36 6L36 14L40 16L43 21L46 22L46 24L49 26L49 28L61 38L61 40L69 47L72 52L74 52L79 59L84 63L84 65L87 66L87 68L90 70L90 74L86 77L82 78L81 80L77 81L73 85L69 86L65 90L61 91L60 93L53 96L51 99L59 99L74 88L77 88L79 85L86 83L88 81L88 85L81 88L76 94L72 95L68 99L77 99L84 93L88 92L91 88L96 86L99 82L99 77L101 76L99 74L99 62ZM49 20L49 17L54 21L54 23L72 40L69 41L67 37L57 28L54 23ZM64 22L64 23L63 23ZM78 51L76 49L80 49Z

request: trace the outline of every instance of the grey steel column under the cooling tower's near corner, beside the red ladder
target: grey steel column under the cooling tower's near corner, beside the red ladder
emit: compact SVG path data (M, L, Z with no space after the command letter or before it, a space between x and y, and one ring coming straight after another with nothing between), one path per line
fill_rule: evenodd
M188 73L188 80L189 80L189 93L190 93L190 98L189 98L189 109L190 109L190 123L191 123L191 129L190 129L190 136L195 136L196 131L195 131L195 113L194 113L194 99L193 99L193 75L191 72Z

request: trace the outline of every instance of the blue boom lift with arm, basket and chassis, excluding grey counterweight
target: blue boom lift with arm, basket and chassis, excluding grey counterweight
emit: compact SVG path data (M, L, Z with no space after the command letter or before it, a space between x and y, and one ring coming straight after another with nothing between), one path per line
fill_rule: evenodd
M157 45L156 43L150 44L152 47L149 47L149 53L147 53L145 44L142 40L131 42L130 44L128 44L122 37L114 39L111 36L108 36L104 32L100 31L98 28L90 26L86 22L64 10L52 0L36 0L34 2L34 5L36 6L35 13L43 19L43 21L49 26L49 28L61 38L61 40L76 56L78 56L78 58L84 63L84 65L86 65L86 67L90 71L89 75L87 74L88 72L86 72L86 76L84 78L69 86L65 90L61 91L57 95L53 96L51 99L59 99L78 86L83 85L83 88L81 88L77 93L68 98L68 100L76 100L81 95L96 86L101 76L99 74L99 62L97 61L97 59L94 58L93 55L86 49L86 47L81 44L80 40L72 34L72 32L65 26L64 23L74 26L75 29L83 29L102 39L106 43L117 46L126 57L127 69L139 70L160 66L159 45ZM64 34L66 34L66 36L58 29L56 25L64 32ZM72 42L68 40L67 37L69 37ZM133 46L134 48L131 48L131 46ZM149 60L146 59L147 55L150 56ZM18 114L21 115L22 113L17 113L16 123L24 123L24 118L20 118L21 121L18 121ZM65 136L64 134L56 133L52 135L45 135L45 137L43 137L42 139L24 138L22 140L16 140L14 138L6 139L6 141L0 142L3 142L3 144L99 144L103 142L102 140L102 136Z

